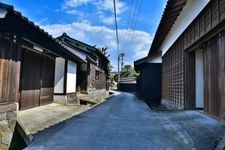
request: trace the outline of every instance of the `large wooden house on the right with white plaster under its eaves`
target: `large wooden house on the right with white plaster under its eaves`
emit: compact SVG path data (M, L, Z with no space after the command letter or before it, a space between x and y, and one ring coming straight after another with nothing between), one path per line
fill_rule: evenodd
M149 56L162 52L162 99L225 119L225 1L168 0Z

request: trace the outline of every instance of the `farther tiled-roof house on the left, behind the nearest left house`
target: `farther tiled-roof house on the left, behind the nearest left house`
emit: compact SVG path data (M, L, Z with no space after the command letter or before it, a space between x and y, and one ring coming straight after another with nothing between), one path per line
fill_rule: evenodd
M79 64L77 74L77 90L90 92L108 89L107 80L110 79L109 60L102 51L69 37L63 33L57 38L64 46L83 57L86 62Z

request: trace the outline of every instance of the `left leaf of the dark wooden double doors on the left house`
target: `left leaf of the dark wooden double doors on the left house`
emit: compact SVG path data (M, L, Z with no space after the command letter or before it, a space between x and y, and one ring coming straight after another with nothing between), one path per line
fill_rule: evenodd
M23 49L20 109L40 105L41 55Z

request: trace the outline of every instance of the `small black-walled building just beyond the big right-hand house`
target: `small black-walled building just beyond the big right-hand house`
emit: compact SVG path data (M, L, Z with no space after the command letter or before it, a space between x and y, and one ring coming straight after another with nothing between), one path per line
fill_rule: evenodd
M140 72L137 78L137 93L149 106L160 105L162 84L161 52L136 60L134 68Z

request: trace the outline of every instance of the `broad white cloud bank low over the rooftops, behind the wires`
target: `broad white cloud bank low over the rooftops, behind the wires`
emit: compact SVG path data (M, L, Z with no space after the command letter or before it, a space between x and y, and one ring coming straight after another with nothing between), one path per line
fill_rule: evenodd
M71 24L52 24L41 26L45 31L54 37L60 36L66 32L69 36L97 47L109 47L110 61L117 70L117 44L115 30L105 26L93 26L89 22L73 22ZM125 53L125 64L133 65L133 61L145 57L149 51L152 42L152 36L144 31L135 30L131 34L129 41L127 39L128 31L119 30L120 48Z

